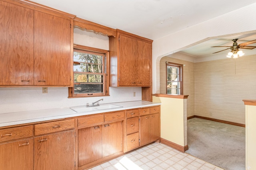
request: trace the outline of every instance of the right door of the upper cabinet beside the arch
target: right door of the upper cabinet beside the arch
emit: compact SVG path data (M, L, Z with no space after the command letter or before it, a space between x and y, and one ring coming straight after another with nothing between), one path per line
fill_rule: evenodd
M137 86L151 86L152 45L138 40Z

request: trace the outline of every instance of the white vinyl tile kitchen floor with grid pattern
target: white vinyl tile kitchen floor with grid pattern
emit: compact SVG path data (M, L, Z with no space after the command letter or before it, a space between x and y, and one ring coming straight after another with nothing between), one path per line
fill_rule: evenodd
M222 170L162 143L153 143L90 170Z

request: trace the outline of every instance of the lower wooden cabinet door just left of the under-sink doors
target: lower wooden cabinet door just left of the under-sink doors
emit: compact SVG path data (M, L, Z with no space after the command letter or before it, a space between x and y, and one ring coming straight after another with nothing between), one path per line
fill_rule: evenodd
M74 130L34 138L34 170L74 169Z

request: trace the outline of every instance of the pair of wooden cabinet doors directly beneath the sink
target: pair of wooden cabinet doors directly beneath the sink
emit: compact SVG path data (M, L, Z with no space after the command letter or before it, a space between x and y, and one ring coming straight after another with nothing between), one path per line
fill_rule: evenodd
M122 152L122 121L78 129L78 166Z

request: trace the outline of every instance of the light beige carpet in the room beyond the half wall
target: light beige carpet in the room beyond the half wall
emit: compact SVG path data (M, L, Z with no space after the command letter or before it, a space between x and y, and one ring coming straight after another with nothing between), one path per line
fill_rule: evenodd
M245 170L245 128L200 118L188 120L186 153L224 170Z

